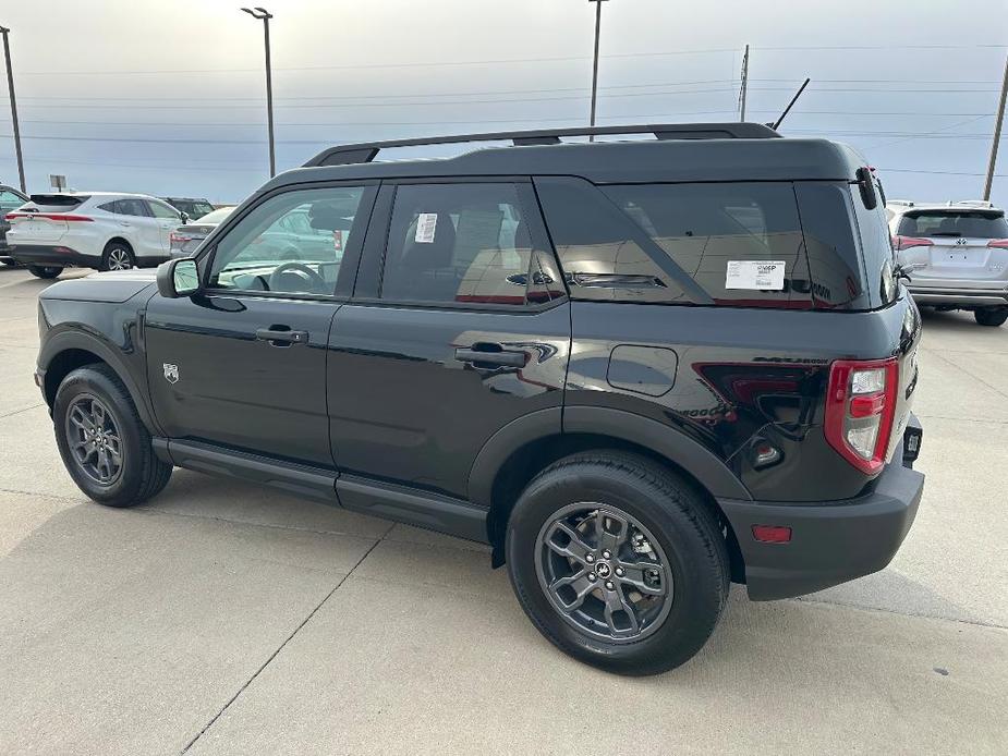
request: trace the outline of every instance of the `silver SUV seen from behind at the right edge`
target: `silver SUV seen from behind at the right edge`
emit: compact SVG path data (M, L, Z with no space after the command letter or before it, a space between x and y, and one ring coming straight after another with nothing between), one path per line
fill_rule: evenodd
M969 309L981 326L1008 320L1008 221L983 200L886 205L892 248L921 306Z

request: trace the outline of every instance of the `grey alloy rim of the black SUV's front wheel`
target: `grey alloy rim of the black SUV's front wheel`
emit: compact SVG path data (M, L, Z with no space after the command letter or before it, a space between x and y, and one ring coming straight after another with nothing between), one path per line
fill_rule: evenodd
M95 483L111 486L122 475L122 436L105 403L82 394L66 409L66 443L77 467Z

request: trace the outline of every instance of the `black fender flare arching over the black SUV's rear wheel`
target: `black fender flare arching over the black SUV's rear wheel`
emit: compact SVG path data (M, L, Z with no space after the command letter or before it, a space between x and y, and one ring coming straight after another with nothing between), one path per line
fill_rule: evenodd
M494 478L525 444L558 434L593 434L652 449L693 476L715 499L752 501L752 495L724 461L677 428L624 410L566 406L538 410L512 420L483 444L469 475L469 499L493 504Z

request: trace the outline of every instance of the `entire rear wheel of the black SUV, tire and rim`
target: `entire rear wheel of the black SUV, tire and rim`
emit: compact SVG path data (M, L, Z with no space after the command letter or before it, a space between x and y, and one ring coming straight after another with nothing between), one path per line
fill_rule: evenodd
M716 519L685 480L635 454L585 452L543 471L514 507L507 554L539 632L621 674L690 659L728 595Z

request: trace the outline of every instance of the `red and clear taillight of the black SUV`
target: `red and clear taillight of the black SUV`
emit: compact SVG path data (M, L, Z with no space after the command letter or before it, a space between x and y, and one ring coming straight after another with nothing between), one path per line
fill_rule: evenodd
M858 470L882 470L896 416L899 363L838 359L829 368L826 440Z

